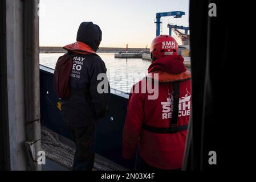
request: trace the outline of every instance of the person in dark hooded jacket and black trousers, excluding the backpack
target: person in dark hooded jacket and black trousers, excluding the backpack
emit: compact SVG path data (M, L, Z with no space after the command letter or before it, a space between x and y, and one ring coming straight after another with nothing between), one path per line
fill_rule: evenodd
M94 167L95 123L108 111L110 88L104 61L96 54L101 42L100 27L92 22L80 24L75 43L65 47L73 57L71 94L62 100L63 120L76 143L73 170Z

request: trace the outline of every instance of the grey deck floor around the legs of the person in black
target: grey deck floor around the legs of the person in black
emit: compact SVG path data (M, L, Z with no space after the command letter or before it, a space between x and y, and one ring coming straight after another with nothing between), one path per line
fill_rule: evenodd
M68 171L72 169L75 143L67 138L41 128L42 150L46 152L46 165L43 171ZM103 156L95 154L94 171L123 171L126 168L105 159Z

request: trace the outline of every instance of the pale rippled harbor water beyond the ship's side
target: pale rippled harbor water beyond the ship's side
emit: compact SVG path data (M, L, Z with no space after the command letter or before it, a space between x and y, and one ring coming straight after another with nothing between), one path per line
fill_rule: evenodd
M40 53L40 64L53 68L63 53ZM147 75L151 61L140 58L115 58L115 53L98 53L105 62L109 85L113 89L129 93L132 86Z

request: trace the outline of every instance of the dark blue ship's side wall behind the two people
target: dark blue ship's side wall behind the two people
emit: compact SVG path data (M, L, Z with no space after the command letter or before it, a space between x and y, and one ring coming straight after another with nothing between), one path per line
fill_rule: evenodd
M40 67L41 123L48 129L71 139L68 127L64 124L56 107L58 97L54 93L52 73L53 69ZM135 160L128 161L122 157L122 133L128 94L124 96L111 94L108 115L96 125L96 153L121 166L133 169Z

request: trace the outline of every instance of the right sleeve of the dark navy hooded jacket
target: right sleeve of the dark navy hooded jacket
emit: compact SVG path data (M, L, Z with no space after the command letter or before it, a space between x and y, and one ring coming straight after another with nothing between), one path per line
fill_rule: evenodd
M90 70L90 94L94 106L96 118L102 118L107 114L110 101L110 86L103 60L95 56Z

